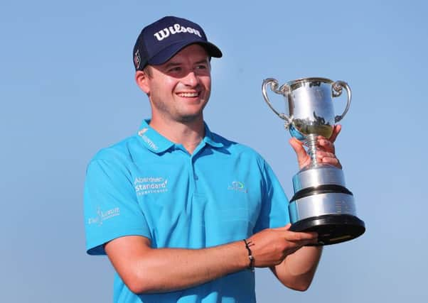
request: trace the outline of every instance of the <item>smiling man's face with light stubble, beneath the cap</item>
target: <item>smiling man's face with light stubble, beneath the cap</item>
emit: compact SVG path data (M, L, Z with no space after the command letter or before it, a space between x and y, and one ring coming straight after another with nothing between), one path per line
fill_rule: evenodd
M146 77L153 119L190 122L202 119L210 98L210 61L200 45L189 45Z

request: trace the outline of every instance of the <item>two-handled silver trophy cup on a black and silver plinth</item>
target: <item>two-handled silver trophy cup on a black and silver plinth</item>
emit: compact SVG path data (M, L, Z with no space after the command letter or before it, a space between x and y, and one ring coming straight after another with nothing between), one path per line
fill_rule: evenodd
M267 97L266 87L282 94L288 103L289 116L280 113ZM334 115L333 98L348 93L343 114ZM311 156L311 164L293 177L294 197L289 202L291 231L316 231L318 246L341 243L365 232L358 219L353 194L345 186L343 170L316 160L318 136L330 138L334 123L341 121L351 104L351 89L343 81L326 78L304 78L279 87L276 79L265 79L262 85L264 101L279 118L291 136L303 141Z

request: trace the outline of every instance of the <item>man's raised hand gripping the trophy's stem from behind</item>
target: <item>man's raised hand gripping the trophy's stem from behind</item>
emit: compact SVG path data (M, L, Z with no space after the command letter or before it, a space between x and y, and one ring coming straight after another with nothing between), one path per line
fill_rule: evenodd
M340 125L336 125L333 127L333 134L329 139L326 139L322 136L319 136L317 152L316 152L316 160L319 163L326 163L334 165L338 168L342 168L341 162L339 162L338 158L336 158L335 150L334 150L334 141L338 134L341 132L342 127ZM296 152L297 162L299 162L299 168L305 167L311 163L311 157L306 153L304 149L304 144L297 140L296 138L291 138L289 140L291 147Z

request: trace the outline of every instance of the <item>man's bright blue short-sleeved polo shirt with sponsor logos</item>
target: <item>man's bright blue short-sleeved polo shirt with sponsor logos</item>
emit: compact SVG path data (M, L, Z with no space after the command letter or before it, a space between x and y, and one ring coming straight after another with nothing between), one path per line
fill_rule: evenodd
M208 248L289 223L288 201L263 158L211 133L193 154L143 121L138 133L100 150L87 167L86 248L144 236L153 248ZM134 294L117 273L114 302L255 302L255 277L242 270L197 287Z

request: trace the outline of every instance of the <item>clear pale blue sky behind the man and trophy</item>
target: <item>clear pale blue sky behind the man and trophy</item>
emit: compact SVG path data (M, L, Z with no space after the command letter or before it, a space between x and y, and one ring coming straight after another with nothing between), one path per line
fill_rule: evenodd
M336 149L367 231L324 249L307 292L257 270L258 301L428 302L427 14L422 0L2 1L1 302L112 301L107 258L85 255L85 167L150 116L132 47L166 15L223 50L205 120L261 153L289 197L298 168L262 80L353 89Z

